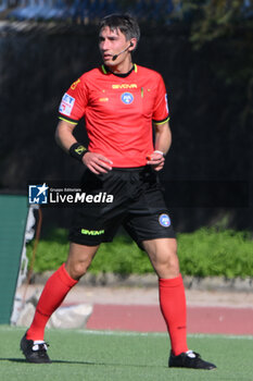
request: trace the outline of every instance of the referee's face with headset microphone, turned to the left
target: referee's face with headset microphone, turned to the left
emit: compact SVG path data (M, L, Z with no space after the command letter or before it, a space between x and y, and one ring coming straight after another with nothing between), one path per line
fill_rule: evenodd
M117 65L126 60L128 56L128 50L123 52L113 61L113 56L118 54L124 49L129 47L129 41L126 40L126 36L119 29L110 29L105 26L100 30L99 35L99 49L102 54L103 62L106 65Z

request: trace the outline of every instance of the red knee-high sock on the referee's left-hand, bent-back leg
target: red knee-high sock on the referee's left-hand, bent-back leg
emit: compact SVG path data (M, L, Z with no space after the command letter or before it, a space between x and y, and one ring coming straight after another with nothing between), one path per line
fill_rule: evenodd
M77 281L66 272L65 263L49 278L37 304L35 317L26 333L26 339L43 340L45 327L49 318L76 283Z

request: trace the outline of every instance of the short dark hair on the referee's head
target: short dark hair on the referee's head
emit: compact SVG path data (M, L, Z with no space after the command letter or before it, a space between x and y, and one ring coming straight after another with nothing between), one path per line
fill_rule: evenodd
M119 29L129 40L136 38L137 42L140 39L140 28L135 17L129 14L113 13L103 17L99 24L99 30L109 26L111 30Z

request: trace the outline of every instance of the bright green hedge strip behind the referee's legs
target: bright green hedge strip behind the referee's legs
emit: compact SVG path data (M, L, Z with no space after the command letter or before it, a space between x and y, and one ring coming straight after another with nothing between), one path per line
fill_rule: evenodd
M33 243L27 246L31 256ZM34 271L58 269L66 260L67 231L54 229L39 242ZM250 232L203 228L193 233L178 234L178 256L181 273L193 276L253 276L253 239ZM118 235L113 243L102 244L90 272L121 274L153 272L144 251L127 236Z

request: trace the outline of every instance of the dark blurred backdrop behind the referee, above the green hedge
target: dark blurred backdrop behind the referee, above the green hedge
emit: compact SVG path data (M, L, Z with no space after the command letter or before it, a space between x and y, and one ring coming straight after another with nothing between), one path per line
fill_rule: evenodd
M134 61L159 71L173 146L161 177L179 232L253 229L253 1L0 0L0 193L77 180L55 144L69 85L101 64L99 20L128 12L141 27ZM85 123L76 128L86 142ZM45 208L43 226L69 210Z

